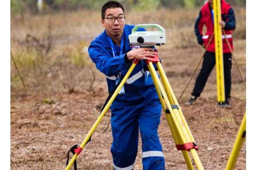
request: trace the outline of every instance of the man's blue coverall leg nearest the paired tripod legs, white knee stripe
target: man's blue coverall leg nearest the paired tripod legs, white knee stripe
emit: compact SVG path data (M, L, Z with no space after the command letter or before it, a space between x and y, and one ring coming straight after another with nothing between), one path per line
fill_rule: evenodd
M159 99L150 99L138 117L142 138L142 164L144 170L164 170L162 145L158 136L162 106Z

